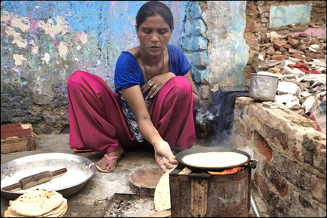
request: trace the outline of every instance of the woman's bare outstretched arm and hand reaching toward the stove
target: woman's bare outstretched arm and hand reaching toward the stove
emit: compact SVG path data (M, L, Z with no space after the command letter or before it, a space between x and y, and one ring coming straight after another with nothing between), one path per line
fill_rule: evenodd
M141 88L137 85L122 89L121 91L136 118L139 132L154 147L157 165L161 169L163 166L166 166L166 168L162 169L164 172L176 167L177 161L169 144L161 138L159 132L152 124Z

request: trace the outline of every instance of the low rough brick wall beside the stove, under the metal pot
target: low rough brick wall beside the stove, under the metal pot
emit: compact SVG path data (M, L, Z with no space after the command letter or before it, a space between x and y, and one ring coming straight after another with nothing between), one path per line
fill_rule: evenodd
M326 216L326 135L284 106L237 98L231 144L253 146L252 184L274 216Z

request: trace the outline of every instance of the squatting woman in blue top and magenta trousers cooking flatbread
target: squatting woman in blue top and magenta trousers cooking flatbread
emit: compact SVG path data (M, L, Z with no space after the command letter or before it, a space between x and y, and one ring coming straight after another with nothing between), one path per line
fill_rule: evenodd
M162 171L176 167L174 147L195 144L193 105L200 101L190 64L169 45L174 30L170 9L148 2L138 11L140 45L123 51L116 62L113 94L98 76L77 71L67 90L71 148L105 150L97 162L112 172L124 146L151 145Z

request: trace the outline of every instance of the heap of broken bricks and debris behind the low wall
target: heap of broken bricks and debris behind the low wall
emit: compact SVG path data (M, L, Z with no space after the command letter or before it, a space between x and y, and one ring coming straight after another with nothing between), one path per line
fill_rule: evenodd
M263 34L258 68L260 72L278 75L275 99L278 104L315 121L314 110L324 112L324 130L316 123L317 130L326 133L326 38L311 37L307 33Z

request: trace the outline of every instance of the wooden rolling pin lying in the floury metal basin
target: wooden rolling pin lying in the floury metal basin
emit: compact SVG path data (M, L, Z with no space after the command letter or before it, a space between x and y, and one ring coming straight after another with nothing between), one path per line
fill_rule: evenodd
M60 170L56 170L53 172L44 171L42 173L37 173L32 176L27 176L27 177L21 178L18 183L5 186L2 188L2 190L10 191L10 190L13 190L16 188L26 189L26 188L32 187L34 185L41 184L43 182L48 182L52 179L52 177L58 176L65 172L67 172L67 168L62 168Z

